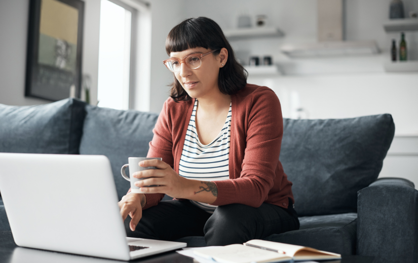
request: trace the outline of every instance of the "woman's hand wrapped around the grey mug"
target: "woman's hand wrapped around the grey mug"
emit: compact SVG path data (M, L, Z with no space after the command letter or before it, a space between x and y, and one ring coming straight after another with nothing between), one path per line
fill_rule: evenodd
M147 194L161 193L173 198L184 198L188 179L178 175L167 163L158 159L144 160L139 163L141 167L154 166L157 169L148 169L135 172L133 177L146 178L135 182L135 185L141 187L141 191ZM152 178L149 178L152 177ZM146 185L159 185L156 187L142 187Z

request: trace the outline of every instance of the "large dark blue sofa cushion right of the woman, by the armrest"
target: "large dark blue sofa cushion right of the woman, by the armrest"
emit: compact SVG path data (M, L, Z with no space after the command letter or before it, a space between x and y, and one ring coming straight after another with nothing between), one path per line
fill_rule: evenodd
M339 120L284 119L280 161L299 216L357 211L357 191L382 170L395 125L389 114Z

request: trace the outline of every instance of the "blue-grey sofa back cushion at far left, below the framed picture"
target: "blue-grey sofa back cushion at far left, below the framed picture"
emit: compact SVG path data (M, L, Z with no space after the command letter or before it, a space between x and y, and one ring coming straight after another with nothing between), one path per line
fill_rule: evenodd
M0 152L79 154L85 105L77 99L35 106L0 104Z

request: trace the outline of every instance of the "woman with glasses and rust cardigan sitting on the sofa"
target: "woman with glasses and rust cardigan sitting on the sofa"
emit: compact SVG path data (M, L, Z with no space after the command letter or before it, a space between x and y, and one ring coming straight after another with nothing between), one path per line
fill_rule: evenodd
M204 236L213 246L297 230L292 183L279 161L283 119L276 94L247 84L231 45L209 18L175 26L166 51L174 82L147 155L163 161L141 162L158 169L133 175L148 178L139 187L159 186L141 187L147 194L128 192L119 202L123 219L132 218L128 236ZM175 200L160 202L164 194Z

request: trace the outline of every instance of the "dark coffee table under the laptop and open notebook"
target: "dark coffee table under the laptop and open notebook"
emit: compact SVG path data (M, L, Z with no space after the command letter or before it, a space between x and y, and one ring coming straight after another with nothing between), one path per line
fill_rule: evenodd
M119 260L97 258L52 252L47 250L31 249L18 247L11 232L0 233L0 262L1 263L20 263L20 262L43 262L43 263L112 263L123 262ZM175 251L139 258L129 262L143 263L194 263L193 258L180 255ZM324 261L327 263L372 263L372 256L343 255L341 260ZM196 261L195 261L196 263Z

